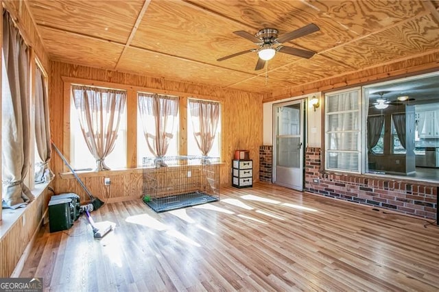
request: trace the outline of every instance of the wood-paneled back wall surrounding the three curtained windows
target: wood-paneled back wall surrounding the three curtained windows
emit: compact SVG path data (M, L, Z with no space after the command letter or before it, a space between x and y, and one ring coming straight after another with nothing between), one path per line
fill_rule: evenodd
M131 73L121 73L104 69L96 69L74 64L61 62L51 62L50 84L49 84L49 112L51 114L51 136L54 143L62 149L69 150L67 136L69 136L69 119L66 119L69 112L69 90L65 80L83 80L88 84L111 83L113 87L120 84L124 88L131 86L134 90L149 90L156 93L168 93L178 95L181 98L180 112L184 112L188 97L198 97L200 99L211 99L222 104L222 162L220 171L221 184L231 183L231 160L236 149L250 150L250 157L254 160L254 180L257 180L259 173L259 146L262 143L262 100L263 94L248 93L240 90L230 90L200 84L185 82L175 82L165 80L161 77L151 77L135 75ZM67 88L66 88L67 87ZM137 106L132 99L135 95L128 95L128 106ZM132 117L131 117L132 118ZM131 119L130 118L130 119ZM129 121L135 125L135 121ZM180 152L185 154L187 147L186 116L182 114L180 118ZM130 127L129 127L130 128ZM67 130L66 130L67 129ZM136 131L128 132L128 148L133 149L136 143ZM135 152L130 152L128 162L135 162ZM78 192L84 199L84 192L78 187L75 179L69 175L60 177L59 173L65 171L62 160L53 155L51 169L56 173L54 188L56 193L69 191ZM128 169L126 171L104 171L101 173L87 173L80 175L84 178L84 183L90 188L91 193L100 199L114 200L121 197L141 196L141 171L139 169ZM104 178L110 177L110 186L104 186ZM117 190L113 191L113 188Z

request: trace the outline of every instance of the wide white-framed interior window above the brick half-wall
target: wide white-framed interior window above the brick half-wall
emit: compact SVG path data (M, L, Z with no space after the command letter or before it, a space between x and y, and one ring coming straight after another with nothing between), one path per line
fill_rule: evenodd
M437 180L438 77L325 94L325 169Z

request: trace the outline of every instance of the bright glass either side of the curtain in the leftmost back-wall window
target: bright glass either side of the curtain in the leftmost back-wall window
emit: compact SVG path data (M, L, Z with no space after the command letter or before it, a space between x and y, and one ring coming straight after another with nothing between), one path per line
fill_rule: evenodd
M102 102L106 102L106 100L103 95ZM82 134L80 118L75 108L73 96L71 96L70 105L70 163L73 169L77 171L92 171L96 167L96 160L93 158L90 149L88 149ZM115 145L110 154L105 158L105 165L110 169L126 168L126 124L126 106L123 106Z

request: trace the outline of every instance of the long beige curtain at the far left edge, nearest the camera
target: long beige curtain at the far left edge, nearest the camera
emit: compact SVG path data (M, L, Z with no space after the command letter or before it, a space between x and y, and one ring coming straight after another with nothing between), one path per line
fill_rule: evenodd
M4 208L34 199L23 183L29 165L29 53L8 12L3 13L1 159Z

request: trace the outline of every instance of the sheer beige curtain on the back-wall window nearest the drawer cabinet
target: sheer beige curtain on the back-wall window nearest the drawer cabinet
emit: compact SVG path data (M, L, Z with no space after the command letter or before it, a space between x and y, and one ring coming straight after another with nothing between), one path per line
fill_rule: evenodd
M193 136L203 156L212 149L219 122L219 103L214 101L189 100Z

